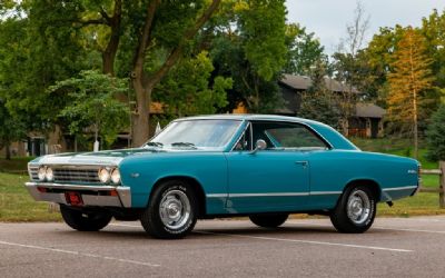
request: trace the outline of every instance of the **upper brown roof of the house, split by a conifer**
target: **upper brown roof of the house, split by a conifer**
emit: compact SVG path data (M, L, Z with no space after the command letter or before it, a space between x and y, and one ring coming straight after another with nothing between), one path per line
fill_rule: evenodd
M313 85L313 81L310 80L309 77L293 76L293 75L284 75L280 82L287 85L290 88L297 89L297 90L307 90ZM336 92L349 91L349 87L347 85L344 85L332 78L325 77L325 82L326 82L326 87L330 91L336 91ZM358 93L358 90L353 87L353 92Z

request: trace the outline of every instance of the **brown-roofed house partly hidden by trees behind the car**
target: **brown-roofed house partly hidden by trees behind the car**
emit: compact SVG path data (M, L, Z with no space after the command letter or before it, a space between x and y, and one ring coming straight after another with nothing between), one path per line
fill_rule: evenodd
M360 92L354 87L344 85L337 80L325 78L326 87L333 93L353 93L352 98L357 99L354 115L345 122L344 133L346 136L357 136L377 138L383 136L383 117L385 109L374 105L360 102ZM278 82L286 106L275 112L287 116L298 116L301 105L301 93L312 86L312 80L305 76L284 75Z

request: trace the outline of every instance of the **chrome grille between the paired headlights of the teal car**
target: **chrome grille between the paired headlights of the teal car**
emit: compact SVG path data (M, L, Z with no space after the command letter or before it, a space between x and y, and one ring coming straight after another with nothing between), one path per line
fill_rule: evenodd
M52 167L56 182L99 183L98 168L60 168Z

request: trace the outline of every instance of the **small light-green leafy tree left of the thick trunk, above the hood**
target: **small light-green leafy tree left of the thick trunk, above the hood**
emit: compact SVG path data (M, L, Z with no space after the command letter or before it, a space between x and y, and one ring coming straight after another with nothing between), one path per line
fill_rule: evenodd
M112 78L98 71L81 71L79 78L57 82L49 90L66 93L70 99L59 115L68 123L69 132L83 136L87 129L92 130L95 141L99 136L102 145L110 145L117 135L128 128L128 106L117 99L128 90L128 80Z

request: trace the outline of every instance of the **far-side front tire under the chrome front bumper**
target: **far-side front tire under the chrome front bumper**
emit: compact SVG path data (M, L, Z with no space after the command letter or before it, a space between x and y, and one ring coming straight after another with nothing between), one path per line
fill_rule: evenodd
M103 211L83 212L80 209L73 209L65 205L60 205L60 212L69 227L80 231L101 230L112 218L110 214Z

